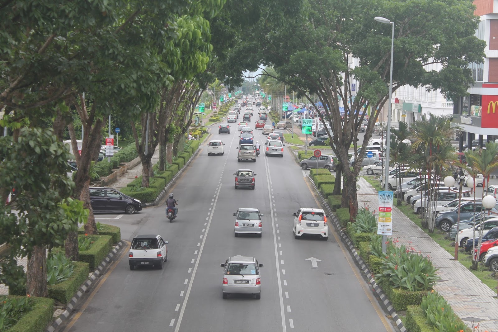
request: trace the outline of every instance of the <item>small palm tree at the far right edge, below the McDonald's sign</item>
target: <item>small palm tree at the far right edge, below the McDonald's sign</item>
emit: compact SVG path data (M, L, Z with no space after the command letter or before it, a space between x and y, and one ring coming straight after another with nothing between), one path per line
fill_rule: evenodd
M477 149L476 149L477 150ZM483 198L488 191L490 182L490 175L498 169L498 143L486 143L486 149L478 150L476 154L469 154L470 159L473 160L474 169L483 174ZM467 161L469 161L467 159ZM486 189L485 189L486 188ZM481 214L482 215L482 214ZM473 259L472 268L476 269L479 266L479 255L481 251L481 242L483 240L484 227L479 227L479 241L477 244L477 260ZM473 252L474 253L474 252Z

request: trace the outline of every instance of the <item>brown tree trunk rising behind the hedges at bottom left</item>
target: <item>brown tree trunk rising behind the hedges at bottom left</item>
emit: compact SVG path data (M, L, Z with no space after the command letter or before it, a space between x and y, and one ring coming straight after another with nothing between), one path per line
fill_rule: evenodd
M34 246L26 267L26 290L29 296L48 297L47 255L45 247Z

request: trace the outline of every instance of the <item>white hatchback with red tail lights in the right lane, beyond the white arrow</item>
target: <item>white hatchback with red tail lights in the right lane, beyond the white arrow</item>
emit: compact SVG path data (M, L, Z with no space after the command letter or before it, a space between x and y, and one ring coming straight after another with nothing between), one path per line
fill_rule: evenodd
M327 241L329 239L329 228L327 227L327 215L322 209L301 207L294 216L294 238L298 239L303 234L316 235Z

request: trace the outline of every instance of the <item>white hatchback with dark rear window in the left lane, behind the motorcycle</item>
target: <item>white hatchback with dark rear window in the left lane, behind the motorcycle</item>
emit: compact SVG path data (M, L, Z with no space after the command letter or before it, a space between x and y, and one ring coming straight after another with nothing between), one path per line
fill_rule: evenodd
M152 266L162 269L164 262L168 260L168 241L164 241L157 234L137 235L131 241L128 253L129 269L137 266Z

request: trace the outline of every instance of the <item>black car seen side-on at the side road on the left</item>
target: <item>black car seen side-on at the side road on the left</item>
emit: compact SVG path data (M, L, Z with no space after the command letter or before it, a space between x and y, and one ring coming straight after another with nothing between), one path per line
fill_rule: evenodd
M90 187L90 204L94 212L133 214L142 210L142 202L136 198L107 187Z

